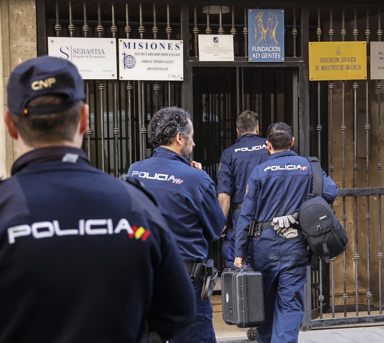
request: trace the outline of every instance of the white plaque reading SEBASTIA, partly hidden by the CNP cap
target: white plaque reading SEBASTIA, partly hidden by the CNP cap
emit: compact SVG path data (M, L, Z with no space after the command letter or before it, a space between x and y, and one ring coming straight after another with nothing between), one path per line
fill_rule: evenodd
M48 55L70 60L83 79L116 79L116 39L48 37Z

